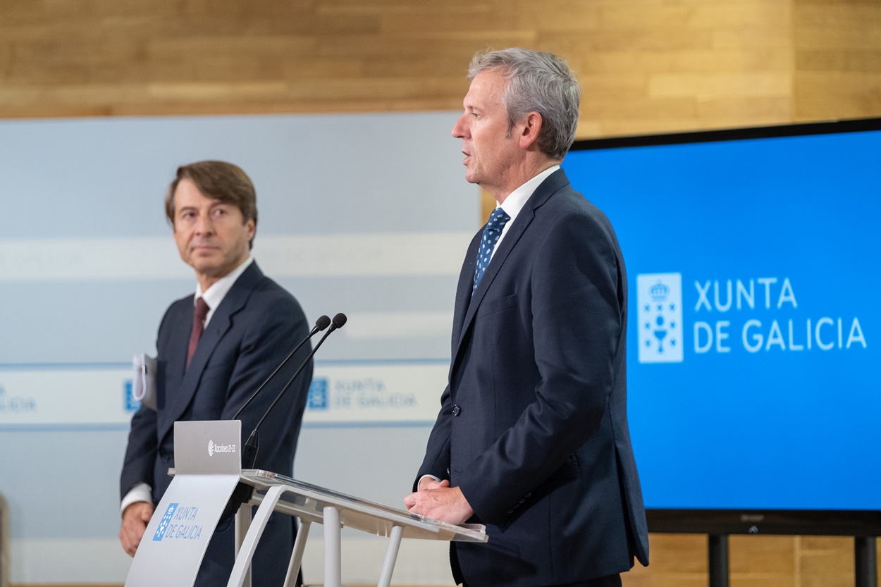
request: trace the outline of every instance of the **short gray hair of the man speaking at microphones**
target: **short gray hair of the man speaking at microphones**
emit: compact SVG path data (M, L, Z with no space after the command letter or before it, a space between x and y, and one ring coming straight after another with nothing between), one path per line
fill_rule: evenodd
M538 148L553 160L563 160L575 140L581 86L566 61L552 53L513 47L480 51L468 68L468 78L498 70L508 79L502 94L508 131L529 112L542 115Z

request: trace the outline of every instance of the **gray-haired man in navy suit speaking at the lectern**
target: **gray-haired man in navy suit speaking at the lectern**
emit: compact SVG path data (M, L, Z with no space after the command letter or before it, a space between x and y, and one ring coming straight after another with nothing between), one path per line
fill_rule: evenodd
M558 56L471 62L465 178L498 202L465 256L452 364L404 503L486 544L453 543L470 587L620 585L648 564L626 416L627 279L609 220L559 168L581 90Z

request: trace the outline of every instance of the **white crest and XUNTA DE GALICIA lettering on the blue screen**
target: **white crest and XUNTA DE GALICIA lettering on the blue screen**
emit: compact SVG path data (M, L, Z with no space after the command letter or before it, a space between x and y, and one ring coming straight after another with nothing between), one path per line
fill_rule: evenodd
M859 316L796 312L801 308L788 277L692 283L697 301L685 312L681 273L636 276L640 363L682 362L686 345L695 355L867 347ZM684 331L691 335L687 343Z

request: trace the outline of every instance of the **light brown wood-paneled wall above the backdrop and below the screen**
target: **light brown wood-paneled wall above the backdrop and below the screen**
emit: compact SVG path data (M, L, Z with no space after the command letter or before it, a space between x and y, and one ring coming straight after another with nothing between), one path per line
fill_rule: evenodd
M0 117L458 109L470 56L566 56L579 137L881 115L881 0L3 0ZM654 534L630 587L707 584ZM734 587L852 585L853 540L741 536Z

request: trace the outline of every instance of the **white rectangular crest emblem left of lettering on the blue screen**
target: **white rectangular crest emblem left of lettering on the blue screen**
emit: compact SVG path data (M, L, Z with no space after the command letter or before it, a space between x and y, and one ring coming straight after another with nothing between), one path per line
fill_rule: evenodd
M636 290L640 363L682 362L682 275L643 273Z

